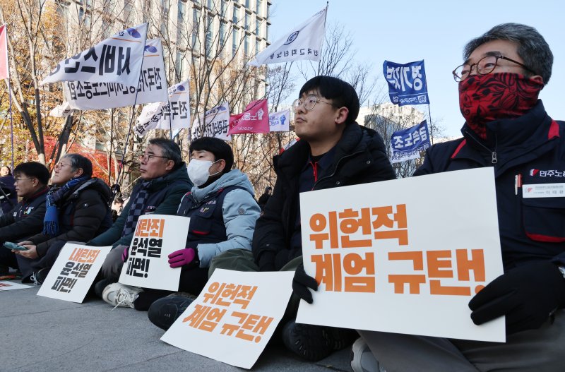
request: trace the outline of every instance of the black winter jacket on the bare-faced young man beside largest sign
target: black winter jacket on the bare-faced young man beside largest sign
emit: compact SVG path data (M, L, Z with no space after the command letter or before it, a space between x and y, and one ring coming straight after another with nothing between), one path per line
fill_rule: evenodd
M252 251L261 271L280 270L302 248L290 248L299 213L299 177L309 160L310 146L299 140L273 158L277 181L253 235ZM376 131L350 124L333 149L333 163L318 174L312 190L395 179L383 140Z

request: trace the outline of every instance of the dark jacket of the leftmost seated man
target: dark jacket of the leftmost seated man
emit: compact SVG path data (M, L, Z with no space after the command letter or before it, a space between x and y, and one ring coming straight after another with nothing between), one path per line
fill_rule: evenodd
M43 230L45 198L49 189L44 186L30 198L22 199L13 210L0 217L0 244L22 241Z

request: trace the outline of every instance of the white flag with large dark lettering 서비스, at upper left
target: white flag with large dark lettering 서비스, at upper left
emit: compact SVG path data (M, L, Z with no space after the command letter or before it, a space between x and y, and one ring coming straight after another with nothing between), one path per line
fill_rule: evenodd
M60 61L42 84L56 81L138 84L148 23L118 32L90 49Z

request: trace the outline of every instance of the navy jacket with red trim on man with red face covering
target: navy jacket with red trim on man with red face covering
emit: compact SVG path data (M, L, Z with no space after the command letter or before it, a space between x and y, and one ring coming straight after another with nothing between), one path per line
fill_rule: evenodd
M522 190L565 183L565 123L552 120L540 100L517 119L487 123L486 140L466 124L461 131L463 138L429 148L414 175L494 167L504 269L564 256L565 195L523 198Z

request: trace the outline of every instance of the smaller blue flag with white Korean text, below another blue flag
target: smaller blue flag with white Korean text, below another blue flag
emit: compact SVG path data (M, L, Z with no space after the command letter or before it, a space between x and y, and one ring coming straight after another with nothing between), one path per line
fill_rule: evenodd
M429 148L427 121L396 131L391 136L391 163L420 159L420 151Z

